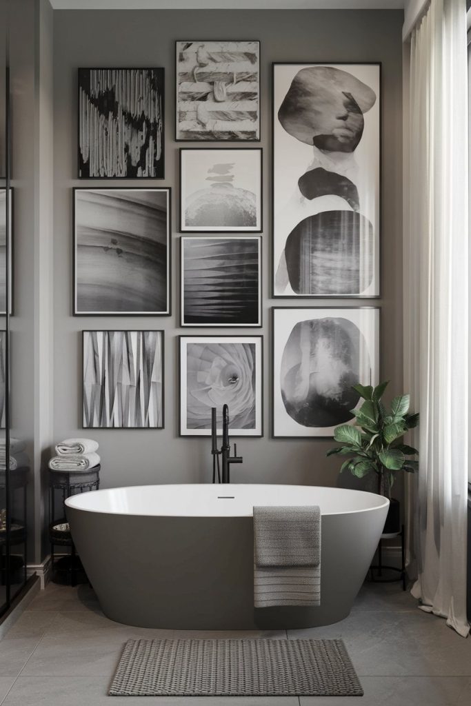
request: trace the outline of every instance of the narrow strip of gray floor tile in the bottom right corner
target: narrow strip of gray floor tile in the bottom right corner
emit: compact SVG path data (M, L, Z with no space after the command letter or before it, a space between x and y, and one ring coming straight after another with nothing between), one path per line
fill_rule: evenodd
M458 706L471 702L471 680L463 676L364 676L361 706ZM359 706L358 697L302 696L301 706Z

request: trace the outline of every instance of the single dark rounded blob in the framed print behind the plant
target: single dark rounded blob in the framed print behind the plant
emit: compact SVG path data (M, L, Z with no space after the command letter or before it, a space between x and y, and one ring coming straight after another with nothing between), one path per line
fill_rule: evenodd
M282 354L280 386L287 414L306 427L332 427L353 418L368 349L362 332L346 318L300 321ZM366 361L368 364L369 361Z

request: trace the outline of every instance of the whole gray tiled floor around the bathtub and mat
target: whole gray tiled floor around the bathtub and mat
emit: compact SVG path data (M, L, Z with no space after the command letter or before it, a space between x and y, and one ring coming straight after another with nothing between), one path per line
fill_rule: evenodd
M86 586L49 584L0 642L3 706L458 706L471 705L471 639L424 614L398 585L365 585L350 616L288 637L345 640L364 698L117 698L107 687L128 638L181 636L103 616ZM234 633L191 633L229 637ZM239 637L278 633L235 633Z

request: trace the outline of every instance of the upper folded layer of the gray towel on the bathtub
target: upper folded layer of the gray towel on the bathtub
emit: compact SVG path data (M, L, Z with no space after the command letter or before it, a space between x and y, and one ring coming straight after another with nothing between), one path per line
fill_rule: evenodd
M257 566L317 566L321 510L317 505L254 508Z

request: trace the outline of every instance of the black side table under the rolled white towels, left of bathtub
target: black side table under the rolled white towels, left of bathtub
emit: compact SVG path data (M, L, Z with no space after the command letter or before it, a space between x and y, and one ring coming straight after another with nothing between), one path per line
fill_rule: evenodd
M53 471L49 469L49 542L54 583L70 582L71 586L87 582L80 558L76 554L66 519L65 501L76 493L100 488L100 464L86 471ZM59 499L56 498L59 496ZM56 559L55 546L70 547L70 554Z

